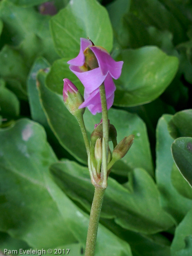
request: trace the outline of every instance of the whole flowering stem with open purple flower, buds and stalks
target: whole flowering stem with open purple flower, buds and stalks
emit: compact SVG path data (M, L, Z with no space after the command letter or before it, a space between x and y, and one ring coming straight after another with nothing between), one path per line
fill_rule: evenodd
M69 60L68 64L85 88L85 100L79 105L79 100L76 97L79 94L78 89L70 80L64 79L64 102L79 121L88 155L91 182L95 187L85 250L85 256L94 256L99 216L110 168L128 152L134 135L125 137L117 144L116 129L110 125L108 120L107 111L113 105L116 89L112 78L120 77L123 61L114 61L104 48L95 46L89 39L80 38L80 52L76 58ZM90 143L83 121L84 110L83 113L79 113L79 109L85 107L88 107L94 115L97 112L102 112L102 120L95 125ZM112 156L108 145L109 140L112 140L114 147Z

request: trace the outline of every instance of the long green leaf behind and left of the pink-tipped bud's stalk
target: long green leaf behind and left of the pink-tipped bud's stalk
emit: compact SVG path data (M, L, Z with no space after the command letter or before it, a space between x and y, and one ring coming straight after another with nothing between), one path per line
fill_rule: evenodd
M78 121L65 107L63 96L45 86L45 78L46 73L40 71L37 75L38 91L48 124L61 146L78 161L87 164L86 148Z

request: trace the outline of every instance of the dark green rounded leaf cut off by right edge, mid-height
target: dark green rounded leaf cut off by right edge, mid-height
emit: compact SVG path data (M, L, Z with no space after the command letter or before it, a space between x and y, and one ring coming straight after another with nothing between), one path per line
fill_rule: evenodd
M172 144L173 159L192 189L192 138L181 137Z

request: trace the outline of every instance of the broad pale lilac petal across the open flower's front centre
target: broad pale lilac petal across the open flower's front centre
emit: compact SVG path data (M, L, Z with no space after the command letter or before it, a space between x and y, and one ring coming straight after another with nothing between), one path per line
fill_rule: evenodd
M106 75L102 74L100 68L82 72L79 67L70 65L69 69L79 78L87 93L92 93L96 90L106 78Z

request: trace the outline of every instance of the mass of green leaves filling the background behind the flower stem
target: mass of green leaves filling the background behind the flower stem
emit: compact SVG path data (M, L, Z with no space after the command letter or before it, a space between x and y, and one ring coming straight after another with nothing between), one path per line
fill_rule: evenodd
M110 174L96 256L192 255L190 0L0 1L0 249L84 254L94 188L63 79L89 37L123 60L109 119L135 135ZM90 136L101 114L84 114Z

